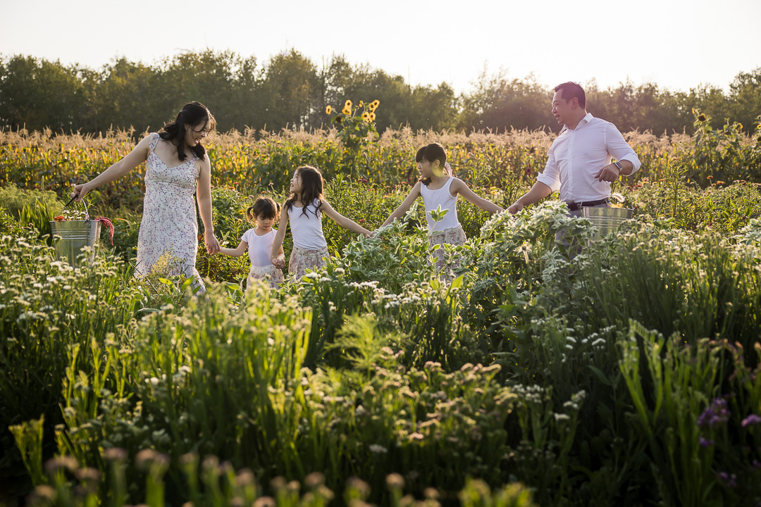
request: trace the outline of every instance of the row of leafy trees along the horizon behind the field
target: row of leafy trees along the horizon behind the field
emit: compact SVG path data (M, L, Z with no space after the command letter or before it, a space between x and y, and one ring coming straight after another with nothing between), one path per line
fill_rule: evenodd
M672 91L631 82L600 89L585 84L587 110L622 131L693 133L693 109L715 127L740 122L755 128L761 115L761 67L740 72L724 92L715 85ZM0 55L0 128L97 133L157 130L189 100L204 103L218 129L279 131L324 128L346 99L380 100L376 125L437 132L510 128L558 130L549 103L552 89L533 77L484 71L473 89L455 93L446 82L412 86L402 76L353 65L334 55L318 66L295 49L267 62L231 51L184 52L147 65L125 58L102 68L62 65L29 55Z

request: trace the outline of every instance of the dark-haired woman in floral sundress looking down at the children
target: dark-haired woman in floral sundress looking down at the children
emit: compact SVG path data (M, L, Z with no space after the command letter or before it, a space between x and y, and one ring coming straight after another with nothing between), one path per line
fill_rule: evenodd
M188 103L161 132L145 136L122 160L91 181L75 186L77 200L81 200L92 189L113 182L147 161L135 277L152 270L183 274L194 277L194 284L205 290L196 270L198 222L193 194L196 193L203 221L206 251L215 254L219 242L212 223L212 165L202 144L215 125L209 109L197 102Z

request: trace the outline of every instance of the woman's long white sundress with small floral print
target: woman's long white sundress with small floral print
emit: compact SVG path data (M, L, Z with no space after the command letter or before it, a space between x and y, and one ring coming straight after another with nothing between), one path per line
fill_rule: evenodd
M154 152L160 139L157 133L151 133L135 277L151 271L170 276L183 274L194 277L193 286L200 286L202 292L206 287L196 269L198 221L193 199L199 177L198 157L189 151L183 163L169 167Z

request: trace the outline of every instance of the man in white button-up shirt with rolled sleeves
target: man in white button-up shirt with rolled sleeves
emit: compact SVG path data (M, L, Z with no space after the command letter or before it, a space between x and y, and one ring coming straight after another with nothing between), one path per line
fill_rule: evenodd
M549 158L537 182L508 208L512 214L524 206L560 191L574 216L582 206L610 207L610 182L629 176L642 165L615 125L587 112L584 89L576 83L555 87L552 114L560 134L547 152ZM615 158L616 162L610 160Z

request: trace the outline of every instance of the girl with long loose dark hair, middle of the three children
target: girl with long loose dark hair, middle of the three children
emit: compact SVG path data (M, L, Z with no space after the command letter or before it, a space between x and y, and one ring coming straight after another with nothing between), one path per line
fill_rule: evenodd
M323 175L316 167L301 166L291 178L291 197L285 201L280 215L280 227L270 252L272 264L283 268L282 252L285 227L291 224L293 251L288 261L288 274L301 280L307 269L315 270L325 265L328 245L323 235L323 213L345 229L370 236L370 231L334 210L323 197Z

